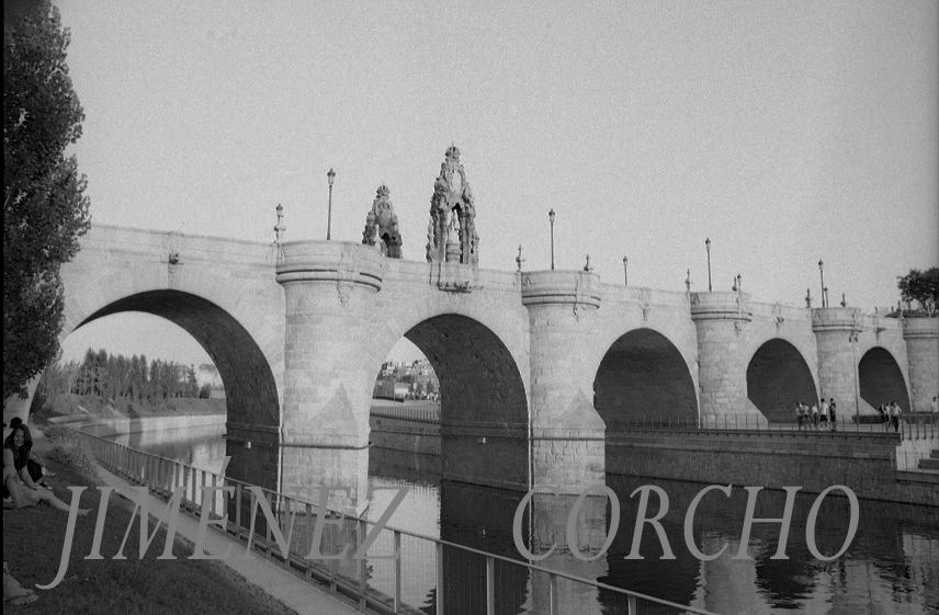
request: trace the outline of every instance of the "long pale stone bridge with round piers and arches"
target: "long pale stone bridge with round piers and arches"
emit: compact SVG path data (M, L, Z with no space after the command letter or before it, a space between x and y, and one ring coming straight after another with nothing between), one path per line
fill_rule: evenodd
M352 242L97 225L63 277L61 340L123 311L182 327L225 383L229 472L307 497L364 497L372 390L403 337L440 379L444 476L517 489L602 481L606 435L642 417L789 422L821 395L849 420L891 400L926 410L939 381L939 319L409 262Z

